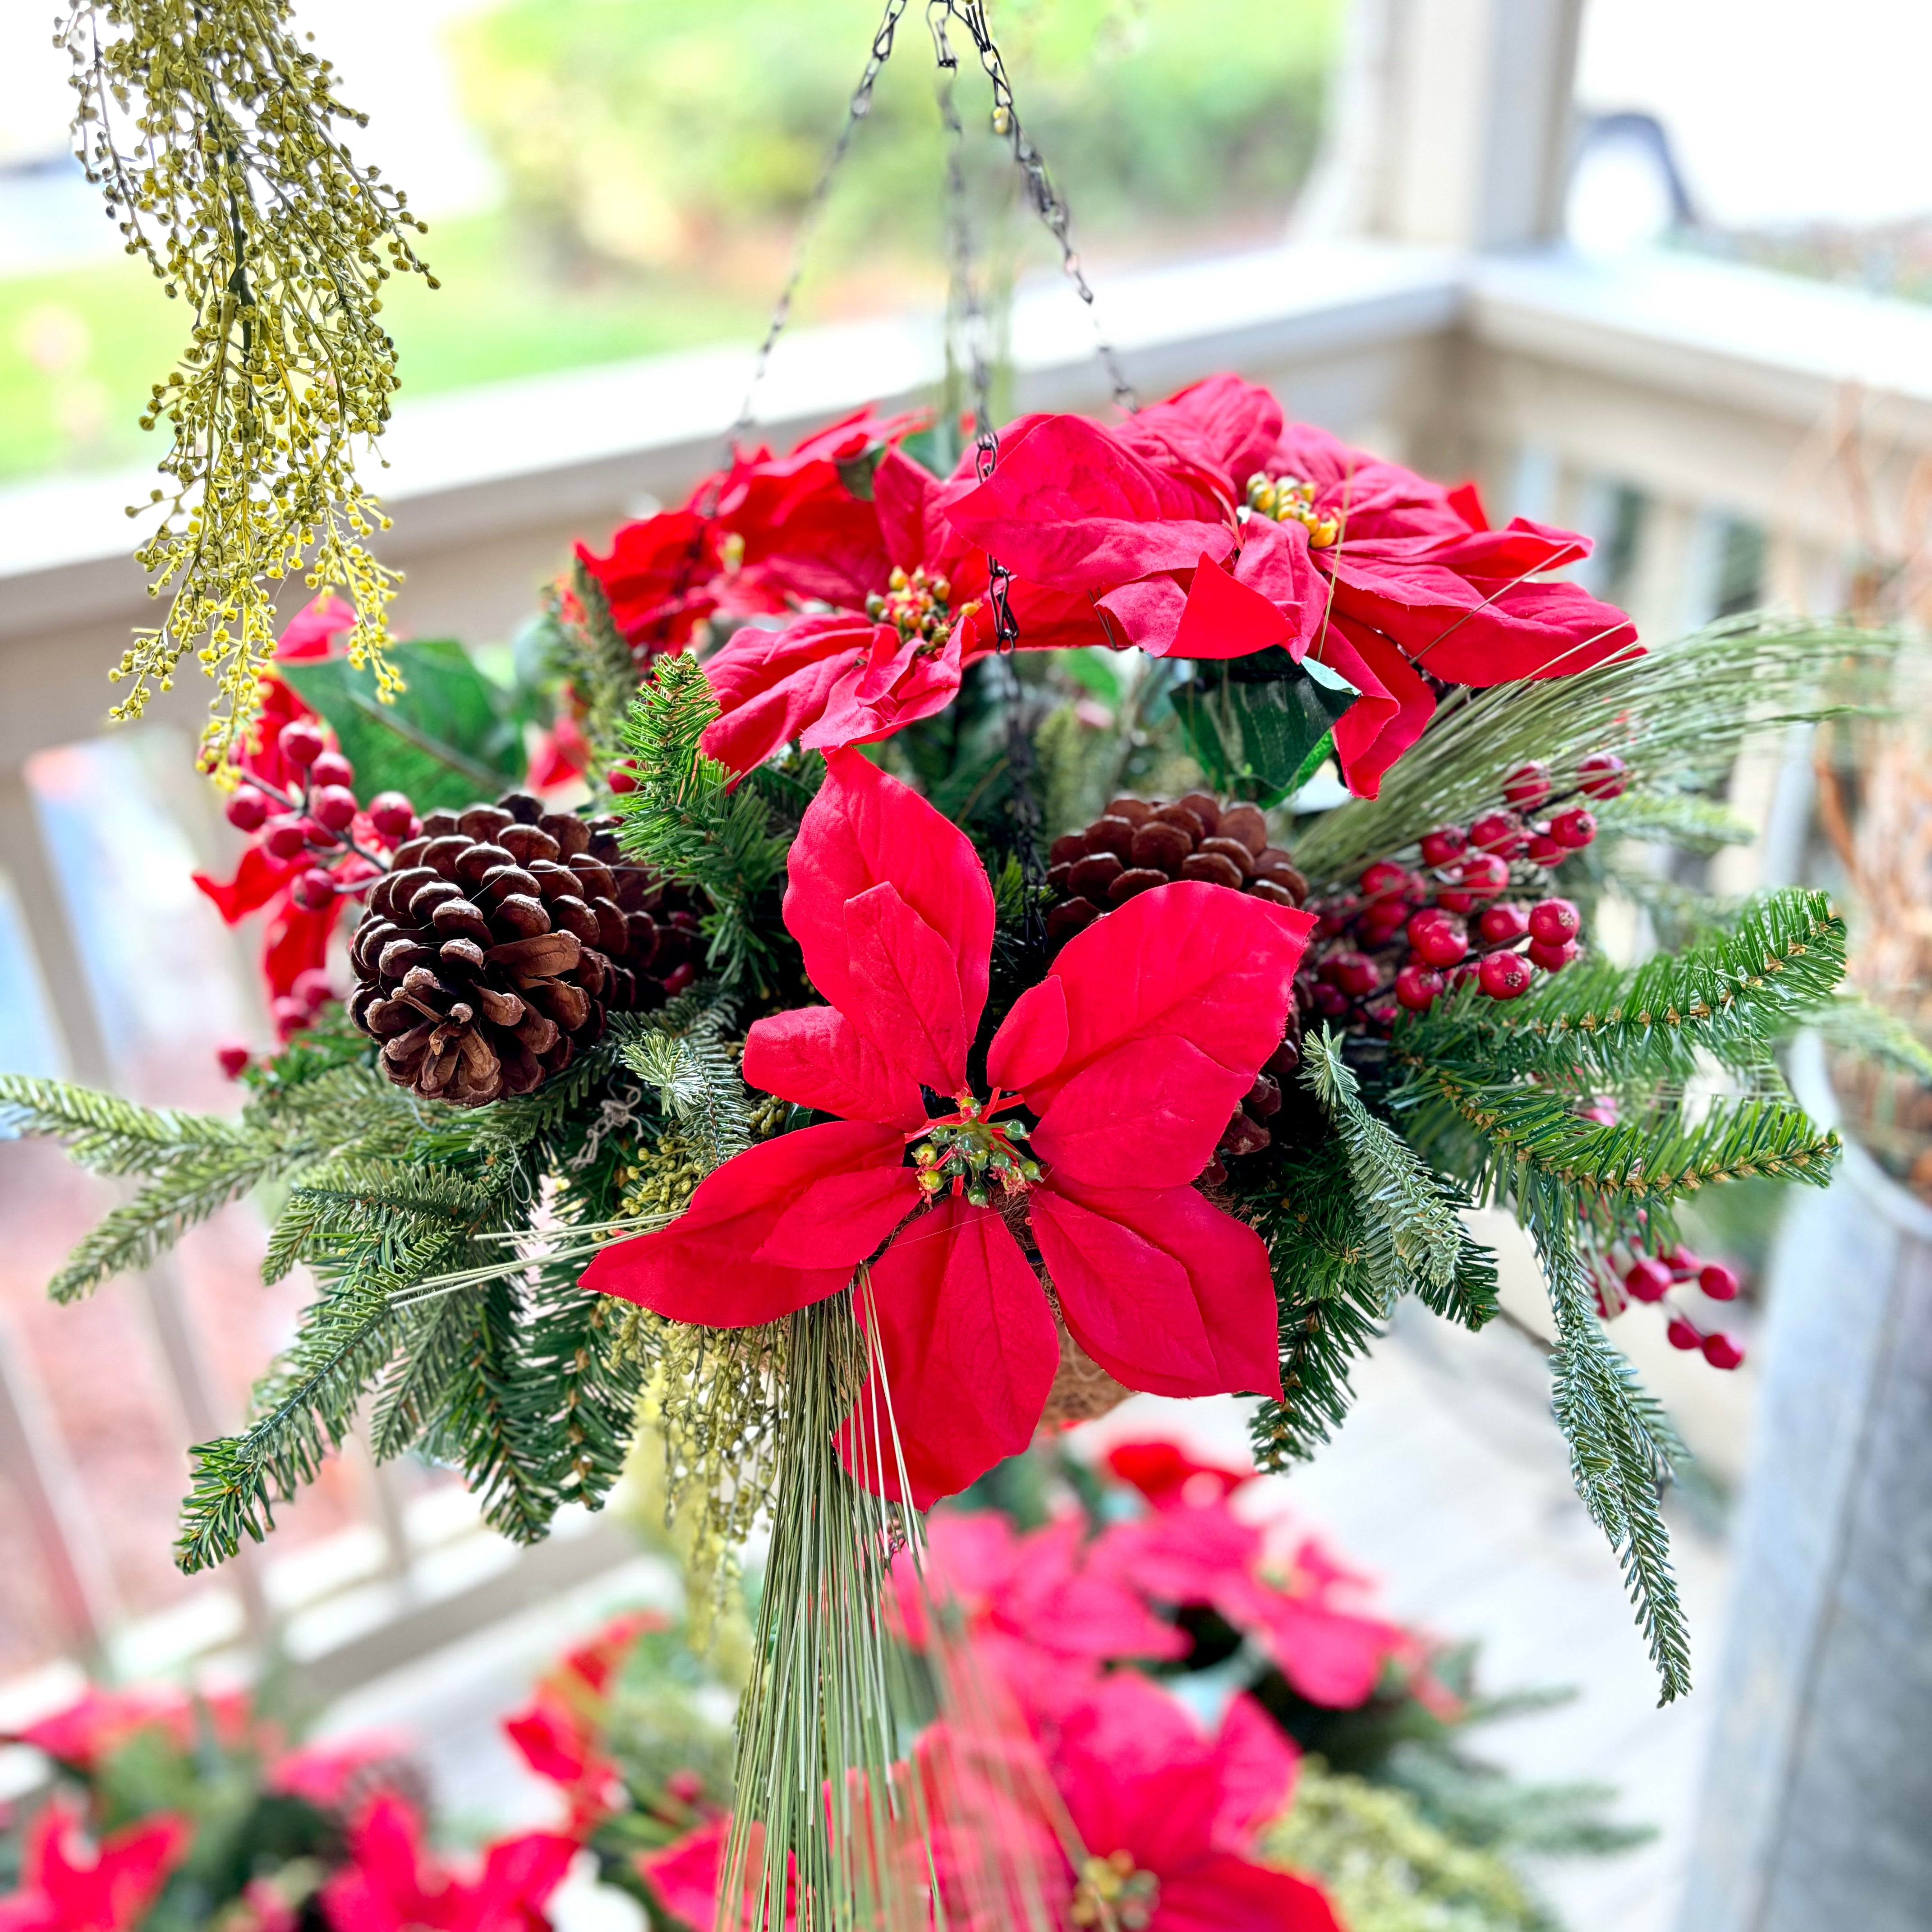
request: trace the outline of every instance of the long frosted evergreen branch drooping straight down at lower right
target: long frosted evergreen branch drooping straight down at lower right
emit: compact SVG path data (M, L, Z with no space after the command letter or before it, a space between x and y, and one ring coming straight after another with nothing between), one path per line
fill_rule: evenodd
M1548 1184L1526 1190L1520 1211L1544 1265L1557 1347L1549 1356L1551 1406L1571 1451L1571 1480L1590 1520L1617 1551L1625 1588L1658 1669L1660 1704L1690 1689L1690 1638L1671 1577L1660 1486L1681 1455L1660 1426L1656 1401L1596 1320L1590 1271L1575 1242L1575 1215Z

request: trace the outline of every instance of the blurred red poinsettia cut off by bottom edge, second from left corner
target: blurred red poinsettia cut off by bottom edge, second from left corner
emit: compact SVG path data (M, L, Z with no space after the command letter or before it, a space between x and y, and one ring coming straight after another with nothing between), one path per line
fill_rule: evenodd
M423 1849L423 1826L398 1797L379 1797L350 1828L350 1862L321 1889L334 1932L549 1932L543 1907L564 1882L578 1841L526 1832L460 1878Z

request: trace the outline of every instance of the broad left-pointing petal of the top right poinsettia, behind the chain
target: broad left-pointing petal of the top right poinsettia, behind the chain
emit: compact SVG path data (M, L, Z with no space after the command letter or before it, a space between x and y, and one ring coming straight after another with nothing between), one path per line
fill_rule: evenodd
M1105 591L1155 570L1227 556L1219 504L1078 415L1026 417L999 466L951 504L952 527L1010 570L1065 591Z

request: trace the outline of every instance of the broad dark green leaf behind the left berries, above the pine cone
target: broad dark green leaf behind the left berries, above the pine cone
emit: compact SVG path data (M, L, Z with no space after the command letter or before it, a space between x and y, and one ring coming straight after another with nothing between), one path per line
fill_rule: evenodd
M524 775L516 699L487 678L454 638L400 643L390 653L408 688L377 703L369 670L346 657L278 665L336 732L357 788L406 792L417 811L495 798Z

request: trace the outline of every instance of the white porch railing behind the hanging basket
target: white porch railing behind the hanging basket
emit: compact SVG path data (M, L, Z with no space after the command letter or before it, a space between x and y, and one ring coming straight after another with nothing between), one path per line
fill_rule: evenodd
M1233 367L1300 417L1428 471L1480 477L1495 516L1520 510L1611 539L1598 568L1613 582L1600 582L1650 634L1712 614L1739 533L1750 539L1739 554L1762 554L1750 601L1828 611L1855 572L1915 568L1932 514L1932 309L1687 257L1592 267L1551 251L1374 243L1124 276L1101 307L1146 396ZM1018 303L1012 342L1020 408L1105 402L1088 321L1059 286ZM572 539L603 539L641 498L670 500L717 462L746 367L742 352L713 350L406 408L383 491L394 514L383 549L408 572L400 624L504 638ZM864 402L918 400L937 367L923 319L802 330L761 392L763 433L784 442ZM151 609L126 558L122 506L137 497L145 479L0 498L0 858L62 1059L106 1082L108 1036L25 765L100 730L104 667ZM191 724L197 684L184 678L158 717ZM211 1434L232 1418L180 1285L162 1267L137 1294L184 1439ZM0 1472L68 1644L99 1650L116 1617L85 1497L6 1329ZM446 1503L412 1517L381 1484L365 1493L363 1530L332 1553L288 1559L288 1571L270 1544L180 1648L276 1623L307 1633L317 1681L344 1689L632 1548L578 1524L524 1557L483 1557L473 1522L468 1542L452 1542L423 1515Z

